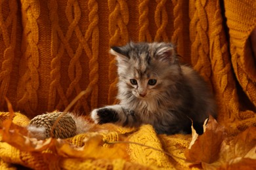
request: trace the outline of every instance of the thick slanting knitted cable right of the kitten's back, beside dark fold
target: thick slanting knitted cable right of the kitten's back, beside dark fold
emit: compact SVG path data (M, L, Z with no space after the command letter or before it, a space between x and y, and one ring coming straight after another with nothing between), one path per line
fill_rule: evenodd
M223 119L220 122L232 123L239 112L238 95L235 88L234 76L232 74L232 65L228 53L228 42L221 39L224 37L223 19L221 18L221 10L219 3L216 4L216 10L213 14L213 27L211 35L209 35L209 55L211 59L211 69L218 74L213 74L213 86L217 92L217 101L219 116ZM232 82L232 83L228 83ZM233 114L224 114L224 112L232 112Z

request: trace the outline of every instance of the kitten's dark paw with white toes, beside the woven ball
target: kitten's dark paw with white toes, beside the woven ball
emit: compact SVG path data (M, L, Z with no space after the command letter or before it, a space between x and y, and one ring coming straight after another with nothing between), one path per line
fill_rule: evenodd
M91 112L91 118L95 121L95 124L114 123L118 120L116 110L109 108L95 109Z

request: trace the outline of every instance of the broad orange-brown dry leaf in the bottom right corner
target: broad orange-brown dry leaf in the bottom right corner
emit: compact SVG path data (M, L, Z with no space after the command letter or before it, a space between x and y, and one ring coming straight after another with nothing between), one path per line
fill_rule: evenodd
M219 155L219 159L213 163L202 162L203 169L253 169L256 160L256 127L248 127L236 137L225 138Z

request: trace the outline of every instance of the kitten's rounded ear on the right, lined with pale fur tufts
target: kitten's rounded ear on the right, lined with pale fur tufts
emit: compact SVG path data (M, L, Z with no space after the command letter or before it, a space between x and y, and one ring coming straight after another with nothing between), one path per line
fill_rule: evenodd
M160 61L175 63L177 61L175 47L171 43L160 44L156 50L155 58Z

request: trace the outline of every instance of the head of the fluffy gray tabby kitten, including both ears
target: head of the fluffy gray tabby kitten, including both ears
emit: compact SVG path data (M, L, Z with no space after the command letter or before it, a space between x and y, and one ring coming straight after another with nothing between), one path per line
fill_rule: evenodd
M119 97L159 98L180 74L172 44L130 42L110 53L117 59Z

